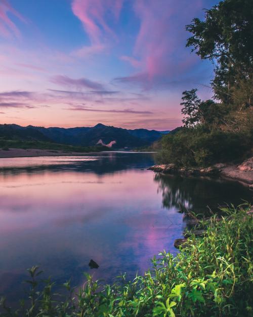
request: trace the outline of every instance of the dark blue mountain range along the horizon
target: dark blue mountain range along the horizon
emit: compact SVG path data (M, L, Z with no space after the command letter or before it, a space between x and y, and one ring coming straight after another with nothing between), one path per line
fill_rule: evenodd
M22 127L16 124L0 125L0 138L24 139L53 142L73 146L106 145L114 149L149 146L160 139L165 131L134 129L128 130L107 126L102 123L94 127Z

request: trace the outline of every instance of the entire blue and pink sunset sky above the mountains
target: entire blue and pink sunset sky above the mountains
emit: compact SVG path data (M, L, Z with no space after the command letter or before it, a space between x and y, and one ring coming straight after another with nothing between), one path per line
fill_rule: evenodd
M215 0L0 0L0 123L171 130L213 65L185 30Z

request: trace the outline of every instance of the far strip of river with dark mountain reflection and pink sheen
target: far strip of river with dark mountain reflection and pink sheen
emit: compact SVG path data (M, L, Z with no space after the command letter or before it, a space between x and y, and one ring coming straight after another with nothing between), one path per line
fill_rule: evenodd
M146 153L102 152L88 156L20 157L0 161L1 174L43 173L44 171L74 170L93 171L96 174L111 173L129 168L143 168L154 163L154 155Z

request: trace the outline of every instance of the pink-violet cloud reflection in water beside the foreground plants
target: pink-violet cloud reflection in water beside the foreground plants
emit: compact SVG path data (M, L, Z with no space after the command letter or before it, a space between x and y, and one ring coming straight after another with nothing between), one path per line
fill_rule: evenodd
M149 260L160 251L174 251L174 240L181 235L182 215L175 208L142 210L141 215L128 217L125 223L132 228L131 235L120 244L130 250L139 273L149 266Z

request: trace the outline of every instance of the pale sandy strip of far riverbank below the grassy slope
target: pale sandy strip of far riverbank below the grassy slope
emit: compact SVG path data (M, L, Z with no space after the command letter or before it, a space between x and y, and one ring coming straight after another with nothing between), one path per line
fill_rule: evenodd
M91 152L68 152L62 150L43 150L43 149L0 149L1 158L12 157L39 157L39 156L83 156Z

